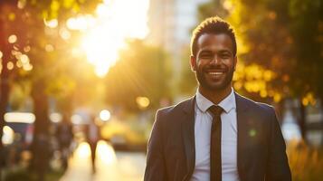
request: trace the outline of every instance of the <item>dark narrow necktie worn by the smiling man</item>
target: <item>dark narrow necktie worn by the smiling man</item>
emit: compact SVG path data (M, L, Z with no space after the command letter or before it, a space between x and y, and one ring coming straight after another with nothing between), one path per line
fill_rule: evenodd
M221 162L221 113L220 106L211 106L209 111L213 114L210 147L210 181L222 181Z

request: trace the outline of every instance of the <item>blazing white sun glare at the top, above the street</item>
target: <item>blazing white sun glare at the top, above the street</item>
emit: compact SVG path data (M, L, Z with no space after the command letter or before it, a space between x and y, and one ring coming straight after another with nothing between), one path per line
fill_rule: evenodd
M98 76L103 77L118 60L127 38L147 35L147 10L148 0L106 0L98 5L94 24L93 19L82 18L93 24L85 31L81 47ZM68 26L84 30L85 25L81 27L80 22L74 18L68 21Z

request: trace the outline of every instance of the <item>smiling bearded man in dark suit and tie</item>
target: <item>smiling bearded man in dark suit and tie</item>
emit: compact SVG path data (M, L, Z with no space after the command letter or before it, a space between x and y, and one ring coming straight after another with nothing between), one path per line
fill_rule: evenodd
M146 181L290 181L274 109L232 88L233 28L219 17L199 24L191 42L193 98L157 111L147 148Z

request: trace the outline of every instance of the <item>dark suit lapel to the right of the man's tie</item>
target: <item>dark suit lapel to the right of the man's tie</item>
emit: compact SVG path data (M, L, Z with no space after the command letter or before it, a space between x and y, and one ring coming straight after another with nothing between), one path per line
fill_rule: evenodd
M241 180L245 180L245 168L248 151L246 150L248 144L248 107L245 103L244 98L239 94L235 93L235 101L237 106L237 127L238 127L238 173Z

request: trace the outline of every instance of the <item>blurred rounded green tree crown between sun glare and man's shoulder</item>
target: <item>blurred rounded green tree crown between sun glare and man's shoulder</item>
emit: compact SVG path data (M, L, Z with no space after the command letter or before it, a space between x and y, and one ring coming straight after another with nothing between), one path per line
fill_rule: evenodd
M150 107L158 107L161 99L169 97L167 63L166 53L160 48L141 40L129 41L106 78L109 104L138 110L136 99L147 97Z

